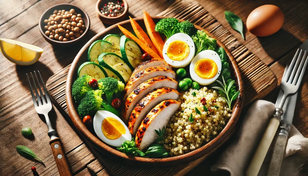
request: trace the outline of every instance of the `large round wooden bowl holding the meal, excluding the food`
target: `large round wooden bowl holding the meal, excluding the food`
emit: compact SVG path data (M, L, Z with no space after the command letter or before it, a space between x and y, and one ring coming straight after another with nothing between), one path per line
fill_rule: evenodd
M165 18L165 17L153 17L153 20L154 22L157 23L161 18ZM136 18L135 20L138 22L138 24L140 24L140 26L143 29L145 29L143 18ZM180 20L180 21L183 21L183 20ZM129 20L123 21L119 24L125 27L126 29L128 29L129 31L133 31ZM199 26L196 26L196 27L197 29L202 30L201 27ZM215 38L215 36L213 36L209 32L207 31L205 32L209 34L210 37ZM115 148L109 145L106 145L98 137L96 137L95 134L92 134L87 129L87 127L83 124L82 119L78 115L77 104L75 103L74 98L72 96L72 84L77 78L77 70L79 66L82 63L87 61L87 51L91 43L96 40L102 39L107 34L120 34L120 30L118 29L117 25L112 25L108 27L107 29L101 31L99 34L95 35L79 51L73 63L71 64L71 68L67 75L65 94L66 94L66 102L67 102L67 108L69 111L69 115L74 125L76 126L77 130L79 131L79 133L83 135L87 139L87 141L91 143L91 145L93 145L96 149L106 154L110 158L113 158L117 161L118 160L122 161L130 165L144 166L144 167L167 167L167 166L177 166L180 164L188 163L198 158L201 158L205 155L208 156L210 153L216 150L219 146L221 146L231 136L231 134L235 130L235 125L240 116L241 109L243 106L244 85L242 81L241 71L237 65L236 60L234 59L230 51L226 48L226 46L223 43L221 43L219 40L217 40L217 45L219 47L223 47L228 55L229 61L231 63L231 67L233 68L233 71L234 71L234 79L237 84L237 90L240 90L241 93L233 105L233 108L232 108L233 112L232 112L232 115L228 123L226 124L225 128L223 128L222 131L213 140L209 141L208 143L206 143L199 149L196 149L192 152L189 152L189 153L186 153L180 156L154 159L154 158L141 158L141 157L128 156L125 153L122 153L116 150Z

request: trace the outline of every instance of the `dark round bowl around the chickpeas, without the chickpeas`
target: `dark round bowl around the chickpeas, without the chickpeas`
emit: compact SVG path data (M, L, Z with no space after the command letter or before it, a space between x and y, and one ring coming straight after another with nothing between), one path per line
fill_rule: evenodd
M78 37L77 39L71 40L71 41L67 41L67 42L61 42L61 41L57 41L57 40L54 40L54 39L50 39L49 36L47 36L45 34L46 30L44 29L44 26L46 25L44 23L44 20L48 19L49 16L51 14L53 14L53 12L55 10L63 10L63 9L68 10L68 11L71 10L71 9L75 9L75 12L77 14L81 14L81 18L83 18L83 23L86 26L86 30L83 32L82 35L80 35L80 37ZM88 16L87 12L84 11L83 9L75 6L75 5L72 5L72 4L64 3L64 4L57 4L55 6L52 6L49 9L45 10L45 12L39 18L39 30L41 31L41 34L43 35L44 39L48 43L51 43L51 44L59 46L59 47L64 47L64 46L67 47L67 46L70 46L73 43L76 43L77 41L80 41L87 34L89 29L90 29L90 18Z

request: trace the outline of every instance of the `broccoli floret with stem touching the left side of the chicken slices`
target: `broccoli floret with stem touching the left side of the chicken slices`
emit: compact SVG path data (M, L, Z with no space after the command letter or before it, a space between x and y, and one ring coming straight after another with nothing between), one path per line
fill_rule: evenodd
M102 90L106 96L106 100L111 104L113 100L113 94L124 91L124 84L115 78L107 77L98 80L98 88Z

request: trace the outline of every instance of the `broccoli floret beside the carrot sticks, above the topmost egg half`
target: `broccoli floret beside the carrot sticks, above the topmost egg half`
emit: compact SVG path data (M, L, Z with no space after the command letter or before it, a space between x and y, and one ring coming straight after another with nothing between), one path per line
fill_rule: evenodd
M166 35L166 38L168 39L173 34L179 32L178 24L179 20L176 18L163 18L156 23L155 31Z

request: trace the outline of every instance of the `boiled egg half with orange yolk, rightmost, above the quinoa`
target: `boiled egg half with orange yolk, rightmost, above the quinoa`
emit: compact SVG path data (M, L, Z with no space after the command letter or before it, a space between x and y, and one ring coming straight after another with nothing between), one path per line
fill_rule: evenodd
M221 59L213 50L201 51L190 63L189 72L192 80L198 84L212 84L221 73Z

